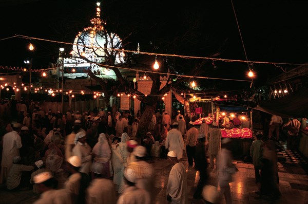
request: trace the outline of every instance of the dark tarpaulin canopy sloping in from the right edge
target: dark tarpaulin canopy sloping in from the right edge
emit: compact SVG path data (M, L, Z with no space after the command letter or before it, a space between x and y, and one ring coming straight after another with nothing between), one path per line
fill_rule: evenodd
M308 88L274 100L260 101L254 109L288 118L308 117Z

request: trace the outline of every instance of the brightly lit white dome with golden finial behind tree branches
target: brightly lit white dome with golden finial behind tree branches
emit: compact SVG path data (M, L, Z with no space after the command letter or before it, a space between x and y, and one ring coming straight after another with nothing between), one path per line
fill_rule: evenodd
M106 52L104 50L106 41L107 49L121 49L122 41L117 34L106 32L104 30L105 23L101 20L101 9L100 4L97 4L96 17L91 20L92 27L85 28L82 32L79 32L76 35L74 40L73 50L71 51L72 57L64 59L65 67L67 68L78 68L80 67L79 74L75 76L85 75L82 73L82 69L90 68L95 73L102 78L112 78L116 80L115 73L108 69L99 66L98 64L103 64L106 61ZM111 50L108 50L109 52ZM85 59L82 59L80 56L86 58L87 60L93 62L89 63ZM115 57L115 64L120 64L124 62L124 52L120 52ZM69 78L73 76L66 75Z

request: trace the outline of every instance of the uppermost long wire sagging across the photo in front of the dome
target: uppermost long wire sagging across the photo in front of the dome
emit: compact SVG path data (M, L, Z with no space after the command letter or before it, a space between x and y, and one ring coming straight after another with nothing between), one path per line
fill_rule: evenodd
M42 38L34 38L31 36L26 36L26 35L14 35L12 37L6 38L23 38L27 40L40 40L40 41L47 41L47 42L52 42L52 43L58 43L58 44L65 44L65 45L75 45L74 43L68 43L68 42L62 42L62 41L54 41L54 40L47 40L47 39L42 39ZM6 40L4 39L4 40ZM82 46L82 45L78 45ZM92 46L91 48L101 48L101 47L95 47ZM147 55L156 55L156 56L165 56L165 57L178 57L178 58L184 58L184 59L206 59L206 60L212 60L212 61L223 61L223 62L243 62L243 63L251 63L251 64L272 64L272 65L304 65L304 64L299 64L299 63L283 63L283 62L265 62L265 61L248 61L248 60L232 60L232 59L222 59L222 58L208 58L208 57L197 57L197 56L189 56L189 55L179 55L179 54L162 54L162 53L153 53L153 52L141 52L141 51L135 51L135 50L125 50L125 49L113 49L113 48L106 48L107 50L113 50L113 51L121 51L121 52L132 52L132 53L139 53L139 54L147 54Z

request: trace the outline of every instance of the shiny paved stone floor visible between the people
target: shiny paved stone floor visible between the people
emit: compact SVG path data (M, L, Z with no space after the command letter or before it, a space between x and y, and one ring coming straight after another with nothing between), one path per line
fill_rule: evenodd
M308 176L307 164L298 163L278 163L279 171L279 189L282 196L274 201L268 197L259 198L254 191L257 191L254 178L254 166L251 163L237 162L239 172L234 176L234 182L231 184L233 203L283 203L283 204L304 204L308 203ZM188 168L187 158L184 157L181 162ZM156 183L155 192L157 203L166 203L165 194L168 182L168 175L171 170L166 159L155 159L152 162L155 166ZM216 172L209 172L209 184L216 185ZM199 180L199 172L194 169L187 170L188 199L189 203L205 203L203 200L192 198ZM28 191L8 191L4 186L0 186L0 203L32 203L38 198L31 190ZM221 203L225 203L224 199Z

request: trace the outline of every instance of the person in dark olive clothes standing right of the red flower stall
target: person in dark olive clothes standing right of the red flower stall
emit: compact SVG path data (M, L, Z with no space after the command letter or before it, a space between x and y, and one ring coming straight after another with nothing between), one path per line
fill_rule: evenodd
M263 136L262 132L258 132L256 135L255 141L253 141L252 146L251 146L251 157L253 158L253 164L255 166L255 178L256 178L256 183L260 182L260 169L261 169L261 159L262 159L262 148L264 143L262 142L261 138Z

